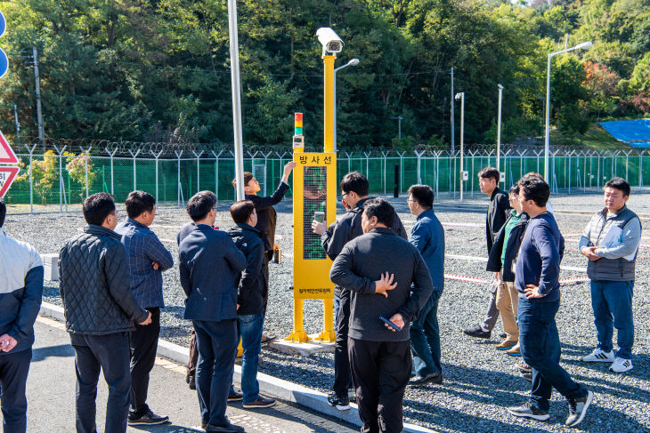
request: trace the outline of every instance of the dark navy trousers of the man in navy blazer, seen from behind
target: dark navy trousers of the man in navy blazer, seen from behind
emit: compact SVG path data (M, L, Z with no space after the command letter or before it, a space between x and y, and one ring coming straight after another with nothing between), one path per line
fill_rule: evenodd
M237 321L193 320L192 323L199 350L196 384L201 421L216 427L225 427L230 425L225 416L225 409L232 387L232 373L239 342Z

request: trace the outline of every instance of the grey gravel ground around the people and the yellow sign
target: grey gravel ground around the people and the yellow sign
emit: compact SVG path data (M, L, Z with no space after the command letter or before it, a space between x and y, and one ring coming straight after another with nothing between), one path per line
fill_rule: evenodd
M602 204L597 193L581 196L554 196L552 204L557 211L573 210L595 212ZM469 198L467 202L484 206L486 199ZM447 212L449 199L438 204L438 218L443 222L446 235L446 252L469 256L485 256L484 216L478 212ZM415 218L408 213L405 197L394 199L394 204L407 231ZM650 193L633 191L630 208L638 213L650 211ZM227 204L220 204L226 211ZM271 265L271 294L267 333L286 336L292 327L292 293L289 290L292 275L291 260L291 204L283 203L279 211L278 244L282 247L281 265ZM121 212L122 216L124 212ZM565 266L584 267L585 259L575 251L581 231L589 221L589 215L557 212L560 229L567 241ZM182 210L160 209L152 229L163 243L177 256L175 235L187 221ZM596 393L594 406L589 410L580 429L590 432L650 431L650 356L648 333L650 331L649 303L646 301L650 282L650 224L642 221L644 238L638 257L634 319L636 339L634 346L634 369L628 373L607 372L607 365L589 365L579 361L589 353L596 337L591 314L589 285L566 285L563 287L562 306L557 315L560 339L563 342L562 364L573 378L584 383ZM232 226L230 216L220 212L217 224L222 228ZM79 213L9 215L5 229L13 236L28 241L39 253L57 253L68 237L77 234L84 226ZM45 230L43 228L46 228ZM43 232L45 231L45 236ZM484 271L484 263L448 259L445 272L472 277L490 277ZM562 277L583 277L576 271L563 271ZM179 285L178 269L167 271L162 336L169 341L187 345L190 324L183 320L183 290ZM57 285L47 282L45 301L61 303ZM439 321L443 341L444 384L409 388L404 399L406 421L444 432L466 431L565 431L564 420L567 405L563 397L554 394L550 421L520 421L506 413L505 407L524 401L530 391L525 381L513 368L515 358L494 349L499 342L493 334L490 341L475 341L464 336L460 330L474 325L483 316L487 300L487 285L446 280L440 301ZM305 331L318 333L322 326L322 302L305 301ZM500 325L495 330L500 332ZM329 354L313 357L290 357L271 349L264 349L261 371L280 378L296 381L313 389L328 391L332 383L333 357Z

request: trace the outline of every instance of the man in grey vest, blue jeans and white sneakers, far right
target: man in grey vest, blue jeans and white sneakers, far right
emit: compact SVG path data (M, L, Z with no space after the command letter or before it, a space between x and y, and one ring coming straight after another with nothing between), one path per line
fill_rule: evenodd
M578 250L589 261L591 306L598 340L597 348L582 357L585 362L611 362L609 371L632 369L634 321L632 288L641 221L627 206L630 184L622 178L605 183L605 208L591 218L580 238ZM617 330L619 350L613 354L613 328Z

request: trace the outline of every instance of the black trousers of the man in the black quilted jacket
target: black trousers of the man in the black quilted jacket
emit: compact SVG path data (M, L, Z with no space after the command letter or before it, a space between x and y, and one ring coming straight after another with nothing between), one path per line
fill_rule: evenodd
M85 335L70 333L77 369L77 433L95 433L97 381L100 370L109 385L106 427L110 433L126 432L131 373L128 333Z

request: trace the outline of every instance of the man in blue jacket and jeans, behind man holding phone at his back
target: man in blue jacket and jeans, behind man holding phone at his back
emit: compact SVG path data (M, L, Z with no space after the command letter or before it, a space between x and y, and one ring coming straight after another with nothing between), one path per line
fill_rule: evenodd
M415 376L409 383L440 384L443 383L443 365L440 363L438 302L444 285L444 230L434 213L434 190L431 187L412 185L406 201L410 212L418 219L410 231L409 242L422 254L434 284L434 292L410 327Z

